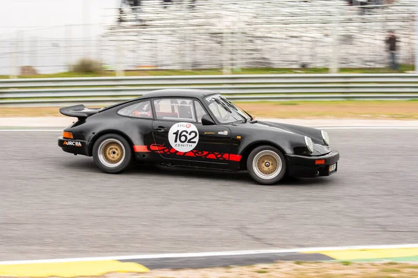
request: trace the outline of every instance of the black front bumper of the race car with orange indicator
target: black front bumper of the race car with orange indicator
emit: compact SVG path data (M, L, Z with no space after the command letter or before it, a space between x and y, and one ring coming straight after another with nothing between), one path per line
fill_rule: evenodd
M288 174L293 177L325 177L336 173L338 170L339 152L332 151L323 156L298 156L286 154ZM323 164L316 161L325 160ZM330 165L336 164L334 172L330 172Z

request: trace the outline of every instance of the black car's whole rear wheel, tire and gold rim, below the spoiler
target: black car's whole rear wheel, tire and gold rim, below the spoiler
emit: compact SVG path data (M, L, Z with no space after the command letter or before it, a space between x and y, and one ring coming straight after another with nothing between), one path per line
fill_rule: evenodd
M118 174L132 162L132 147L123 136L108 133L93 145L93 161L103 172Z

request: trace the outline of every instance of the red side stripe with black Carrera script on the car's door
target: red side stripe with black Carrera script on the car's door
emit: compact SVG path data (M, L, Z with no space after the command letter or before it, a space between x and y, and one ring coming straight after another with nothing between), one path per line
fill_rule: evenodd
M164 147L164 145L149 145L149 146L134 146L134 152L157 152L159 154L173 154L177 156L192 156L200 157L203 159L217 159L220 161L240 161L241 156L238 154L226 154L221 152L208 152L199 151L193 149L190 152L178 152L176 149L171 147Z

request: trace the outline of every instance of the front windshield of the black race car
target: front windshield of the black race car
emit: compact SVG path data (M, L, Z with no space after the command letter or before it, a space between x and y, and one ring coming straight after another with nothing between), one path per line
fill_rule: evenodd
M251 115L220 95L210 96L205 100L207 101L210 111L222 124L252 120Z

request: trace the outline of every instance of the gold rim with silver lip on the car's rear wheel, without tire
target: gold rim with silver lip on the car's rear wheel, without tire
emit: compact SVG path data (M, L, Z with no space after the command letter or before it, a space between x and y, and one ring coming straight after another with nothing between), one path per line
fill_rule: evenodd
M106 167L118 167L125 159L125 147L116 139L104 140L98 148L100 162Z

